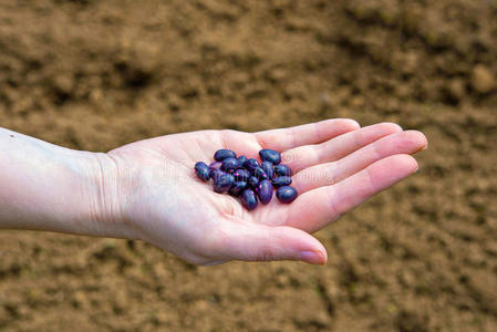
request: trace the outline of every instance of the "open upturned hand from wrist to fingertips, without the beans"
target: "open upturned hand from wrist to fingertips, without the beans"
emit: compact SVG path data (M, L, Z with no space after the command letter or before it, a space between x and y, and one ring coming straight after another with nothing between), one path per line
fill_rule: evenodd
M116 197L111 222L124 220L136 238L193 263L238 259L322 264L325 249L310 232L416 172L410 154L426 146L420 132L403 132L392 123L360 128L351 120L253 134L167 135L107 153L113 162L102 163L107 165L103 193ZM210 163L219 148L249 158L257 158L261 148L281 152L282 163L293 169L299 197L290 205L273 197L248 211L238 199L214 193L210 183L195 176L194 165Z

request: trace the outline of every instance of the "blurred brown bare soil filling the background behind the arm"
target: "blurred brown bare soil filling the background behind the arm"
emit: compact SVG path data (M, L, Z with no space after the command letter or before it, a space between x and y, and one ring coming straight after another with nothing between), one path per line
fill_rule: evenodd
M325 267L0 231L0 330L496 331L496 76L493 0L0 1L11 129L107 151L348 116L429 139L418 174L317 235Z

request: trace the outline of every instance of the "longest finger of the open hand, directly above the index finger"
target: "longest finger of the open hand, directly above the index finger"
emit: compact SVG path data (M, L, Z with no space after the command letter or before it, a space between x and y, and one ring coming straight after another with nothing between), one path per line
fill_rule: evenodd
M392 134L336 162L302 169L293 176L293 186L301 194L318 187L330 186L360 172L374 162L398 154L414 154L425 148L426 145L425 135L417 131Z

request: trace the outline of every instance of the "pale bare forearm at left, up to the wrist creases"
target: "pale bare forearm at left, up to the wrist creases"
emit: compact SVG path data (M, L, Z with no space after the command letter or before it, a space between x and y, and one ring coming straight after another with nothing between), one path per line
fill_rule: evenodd
M112 162L0 128L0 228L125 237L102 163Z

